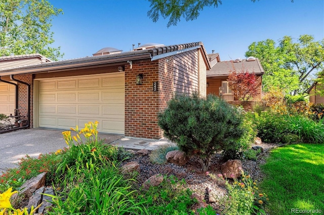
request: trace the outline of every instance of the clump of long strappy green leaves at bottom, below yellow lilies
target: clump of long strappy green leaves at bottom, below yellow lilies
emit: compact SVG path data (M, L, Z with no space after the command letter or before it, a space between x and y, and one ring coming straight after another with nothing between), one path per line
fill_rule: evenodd
M145 199L134 198L134 179L125 179L117 166L111 162L98 171L80 170L76 182L52 196L55 206L49 214L147 214Z

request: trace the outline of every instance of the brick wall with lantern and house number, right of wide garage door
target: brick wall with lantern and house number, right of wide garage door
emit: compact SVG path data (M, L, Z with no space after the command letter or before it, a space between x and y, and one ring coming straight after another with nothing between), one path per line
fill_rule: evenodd
M136 85L136 76L143 74L143 84ZM159 61L133 62L133 68L125 66L125 136L157 139L159 92L152 85L158 81Z

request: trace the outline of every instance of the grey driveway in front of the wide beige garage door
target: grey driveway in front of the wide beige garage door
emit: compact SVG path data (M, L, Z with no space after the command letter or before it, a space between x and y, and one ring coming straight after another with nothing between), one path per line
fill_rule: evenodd
M99 134L106 143L121 138L117 135ZM7 168L15 168L20 160L28 154L38 157L39 154L55 152L67 147L62 130L25 129L0 134L0 174Z

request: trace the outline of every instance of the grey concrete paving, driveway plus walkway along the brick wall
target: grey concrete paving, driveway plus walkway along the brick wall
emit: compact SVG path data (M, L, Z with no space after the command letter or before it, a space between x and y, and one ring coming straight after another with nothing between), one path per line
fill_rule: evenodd
M99 134L105 143L130 149L154 150L159 145L169 143L168 140L127 138L118 135ZM67 147L62 130L25 129L0 134L0 174L7 168L18 167L19 160L28 154L38 157L39 154L55 152Z

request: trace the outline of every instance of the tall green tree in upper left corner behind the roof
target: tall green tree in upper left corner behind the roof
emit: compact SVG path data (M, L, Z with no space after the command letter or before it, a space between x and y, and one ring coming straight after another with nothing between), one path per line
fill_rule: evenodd
M51 19L62 13L47 0L0 1L0 56L40 53L52 60L63 55L54 42Z

